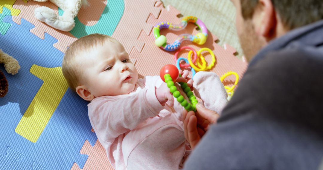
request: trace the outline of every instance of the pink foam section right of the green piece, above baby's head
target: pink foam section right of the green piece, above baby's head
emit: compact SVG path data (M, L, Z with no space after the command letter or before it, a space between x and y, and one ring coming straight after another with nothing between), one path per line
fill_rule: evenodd
M112 37L117 39L130 52L133 47L141 52L144 42L139 41L138 37L143 30L146 35L151 33L153 25L146 21L150 14L154 18L159 16L160 8L155 7L155 0L125 0L125 10L123 16L115 29Z

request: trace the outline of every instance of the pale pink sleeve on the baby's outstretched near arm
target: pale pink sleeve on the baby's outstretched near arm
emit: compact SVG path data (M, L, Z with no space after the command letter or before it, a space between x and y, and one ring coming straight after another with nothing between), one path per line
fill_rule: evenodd
M109 96L96 98L88 109L97 135L107 142L113 142L147 118L158 115L164 107L156 98L155 88L150 88L122 99Z

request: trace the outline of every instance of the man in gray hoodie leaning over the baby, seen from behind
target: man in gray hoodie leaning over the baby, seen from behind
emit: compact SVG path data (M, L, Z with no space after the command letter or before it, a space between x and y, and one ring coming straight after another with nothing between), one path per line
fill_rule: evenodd
M318 169L323 159L323 1L232 0L249 66L221 117L184 113L184 169ZM206 122L215 123L202 136ZM196 126L197 124L197 126Z

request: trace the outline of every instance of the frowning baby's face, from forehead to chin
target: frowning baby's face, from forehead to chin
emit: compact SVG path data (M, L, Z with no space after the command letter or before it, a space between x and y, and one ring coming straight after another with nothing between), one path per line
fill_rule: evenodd
M123 46L107 40L104 45L83 52L81 61L85 85L94 97L129 94L135 88L138 71Z

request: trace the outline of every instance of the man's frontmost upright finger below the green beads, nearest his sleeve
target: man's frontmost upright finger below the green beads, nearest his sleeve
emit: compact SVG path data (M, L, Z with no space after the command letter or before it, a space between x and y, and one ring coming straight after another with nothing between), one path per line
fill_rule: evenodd
M200 136L199 133L197 131L197 119L195 116L190 116L189 117L189 121L187 124L187 133L188 133L188 141L192 147L192 149L194 149L194 147L198 144L198 142L200 141Z

